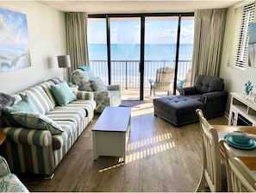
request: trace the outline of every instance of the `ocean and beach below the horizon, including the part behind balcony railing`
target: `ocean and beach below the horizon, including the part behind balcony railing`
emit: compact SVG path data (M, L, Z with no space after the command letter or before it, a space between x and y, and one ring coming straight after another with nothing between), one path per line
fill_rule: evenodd
M138 88L140 73L139 44L111 44L111 81L113 84L128 83L129 88ZM108 82L107 46L105 44L89 44L89 60L91 69L97 76ZM191 67L193 45L181 44L179 49L178 79L184 79ZM175 44L146 44L145 45L145 86L148 87L148 78L154 78L159 67L171 66L174 68L176 58ZM94 61L96 60L96 61ZM100 61L99 61L100 60Z

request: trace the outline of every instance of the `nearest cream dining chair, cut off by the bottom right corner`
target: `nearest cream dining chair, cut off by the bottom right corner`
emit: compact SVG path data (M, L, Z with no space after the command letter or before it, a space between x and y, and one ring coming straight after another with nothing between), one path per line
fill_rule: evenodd
M247 168L234 153L226 140L220 140L225 153L225 164L227 166L228 191L244 192L256 191L256 176Z

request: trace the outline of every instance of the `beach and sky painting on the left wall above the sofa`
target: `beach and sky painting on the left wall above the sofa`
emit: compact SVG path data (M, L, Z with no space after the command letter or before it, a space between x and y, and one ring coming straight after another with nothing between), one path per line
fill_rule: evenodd
M27 16L0 8L0 72L30 66Z

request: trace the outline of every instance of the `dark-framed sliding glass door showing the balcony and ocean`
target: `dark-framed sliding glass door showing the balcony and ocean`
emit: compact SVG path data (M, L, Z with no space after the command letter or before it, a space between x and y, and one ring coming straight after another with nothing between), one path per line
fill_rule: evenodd
M91 68L105 84L120 84L129 94L123 99L144 100L153 98L148 79L158 68L172 67L170 90L176 94L177 84L190 82L193 19L192 13L89 16Z

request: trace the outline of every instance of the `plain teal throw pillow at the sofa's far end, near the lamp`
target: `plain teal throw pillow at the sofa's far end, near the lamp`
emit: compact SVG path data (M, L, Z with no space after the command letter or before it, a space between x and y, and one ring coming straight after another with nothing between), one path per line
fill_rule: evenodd
M77 96L75 96L66 82L51 85L51 90L60 106L66 106L66 104L77 100Z

